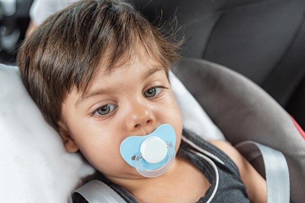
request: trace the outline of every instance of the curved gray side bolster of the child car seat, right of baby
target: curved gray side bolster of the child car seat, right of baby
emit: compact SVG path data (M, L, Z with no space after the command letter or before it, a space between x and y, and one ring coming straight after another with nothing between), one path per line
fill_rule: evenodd
M289 168L290 200L304 201L305 140L274 99L244 76L208 61L184 59L172 71L233 145L253 140L281 151ZM262 158L250 161L265 176Z

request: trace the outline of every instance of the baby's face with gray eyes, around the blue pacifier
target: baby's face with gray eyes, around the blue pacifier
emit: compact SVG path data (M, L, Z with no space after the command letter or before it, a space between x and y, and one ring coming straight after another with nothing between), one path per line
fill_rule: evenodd
M120 154L129 136L148 135L168 123L176 133L176 151L180 145L182 118L165 70L146 61L135 58L110 74L97 68L84 99L74 90L62 105L58 124L67 151L79 149L108 178L141 177Z

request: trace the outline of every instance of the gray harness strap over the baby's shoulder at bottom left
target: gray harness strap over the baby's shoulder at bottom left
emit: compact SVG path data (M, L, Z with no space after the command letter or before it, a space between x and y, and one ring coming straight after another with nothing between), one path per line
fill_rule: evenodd
M74 192L82 195L88 203L126 203L110 186L99 180L92 180Z

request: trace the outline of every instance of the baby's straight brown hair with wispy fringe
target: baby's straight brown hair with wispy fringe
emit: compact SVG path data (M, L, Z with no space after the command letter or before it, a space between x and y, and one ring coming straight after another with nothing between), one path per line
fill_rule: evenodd
M47 18L24 41L17 57L23 83L57 129L66 94L73 88L85 93L104 55L111 71L140 45L168 71L179 58L181 41L161 33L121 0L77 2Z

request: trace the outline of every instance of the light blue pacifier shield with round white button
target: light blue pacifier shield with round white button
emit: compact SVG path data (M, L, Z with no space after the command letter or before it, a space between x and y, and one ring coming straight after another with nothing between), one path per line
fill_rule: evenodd
M175 130L170 124L162 124L149 135L131 136L126 138L120 146L123 159L136 168L134 158L141 154L141 165L146 170L162 167L170 158L166 143L176 145Z

